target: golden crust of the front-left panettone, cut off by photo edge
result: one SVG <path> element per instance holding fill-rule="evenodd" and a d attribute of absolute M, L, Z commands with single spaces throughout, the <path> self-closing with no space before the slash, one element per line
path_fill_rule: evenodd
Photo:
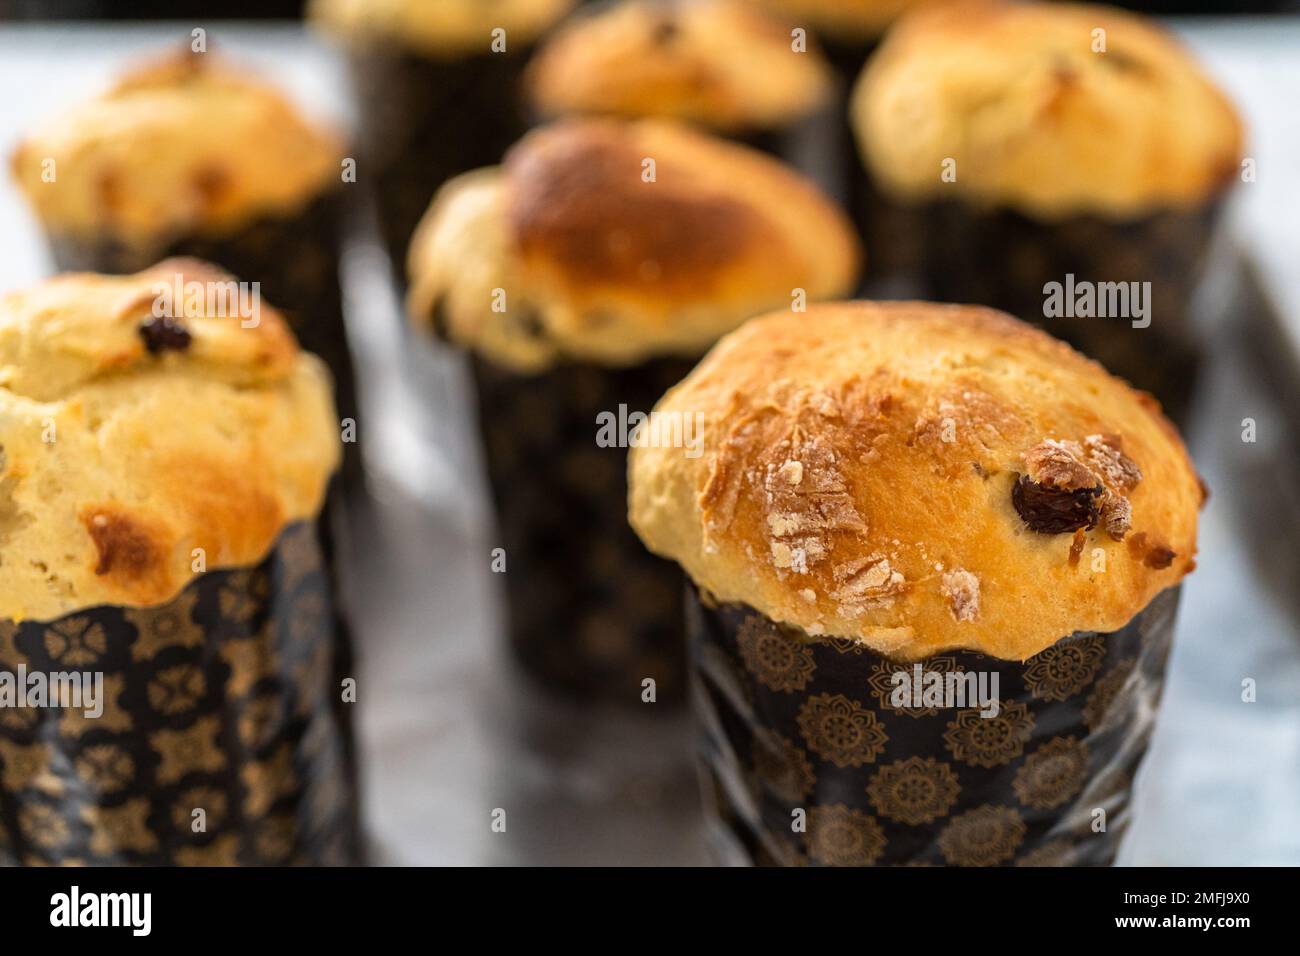
<path fill-rule="evenodd" d="M 0 298 L 0 619 L 166 601 L 320 510 L 339 458 L 329 375 L 270 306 L 182 299 L 183 332 L 147 346 L 164 286 L 228 281 L 178 259 Z"/>

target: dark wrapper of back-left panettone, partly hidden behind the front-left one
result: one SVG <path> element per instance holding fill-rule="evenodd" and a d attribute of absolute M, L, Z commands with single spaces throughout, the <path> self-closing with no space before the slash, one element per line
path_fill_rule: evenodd
<path fill-rule="evenodd" d="M 220 265 L 237 280 L 260 282 L 261 297 L 289 321 L 302 347 L 320 355 L 334 377 L 341 419 L 358 420 L 352 358 L 343 324 L 339 237 L 344 196 L 334 190 L 296 216 L 263 217 L 226 235 L 183 235 L 162 247 L 136 247 L 112 237 L 48 237 L 55 264 L 65 272 L 140 272 L 172 256 Z M 343 446 L 346 490 L 360 486 L 360 446 Z"/>

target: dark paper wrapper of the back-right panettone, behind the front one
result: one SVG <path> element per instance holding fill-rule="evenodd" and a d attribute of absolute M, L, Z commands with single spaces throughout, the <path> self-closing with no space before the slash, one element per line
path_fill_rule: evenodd
<path fill-rule="evenodd" d="M 1202 345 L 1190 319 L 1218 202 L 1127 222 L 1076 216 L 1039 222 L 956 202 L 900 211 L 922 237 L 920 278 L 945 302 L 993 306 L 1041 325 L 1110 372 L 1150 392 L 1184 423 Z M 1150 282 L 1148 328 L 1128 317 L 1044 317 L 1048 282 Z"/>

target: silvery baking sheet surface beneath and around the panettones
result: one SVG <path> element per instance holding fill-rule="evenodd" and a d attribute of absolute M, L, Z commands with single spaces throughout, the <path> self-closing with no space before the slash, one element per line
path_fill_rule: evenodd
<path fill-rule="evenodd" d="M 1247 107 L 1260 168 L 1269 170 L 1238 203 L 1235 232 L 1268 237 L 1270 256 L 1290 250 L 1290 271 L 1273 268 L 1265 282 L 1300 286 L 1300 183 L 1284 172 L 1300 152 L 1284 94 L 1300 87 L 1300 23 L 1210 21 L 1184 33 Z M 188 35 L 182 26 L 0 26 L 0 87 L 23 91 L 0 113 L 0 152 L 36 117 L 101 86 L 133 53 L 181 34 Z M 209 34 L 312 112 L 347 120 L 337 61 L 299 29 Z M 0 287 L 46 274 L 39 233 L 6 179 L 0 225 Z M 346 588 L 359 611 L 358 732 L 372 858 L 707 862 L 685 714 L 655 705 L 572 709 L 534 692 L 500 658 L 465 369 L 406 339 L 382 252 L 360 228 L 347 252 L 348 321 L 374 496 L 354 515 Z M 1248 252 L 1265 261 L 1257 248 Z M 1231 261 L 1231 250 L 1221 260 Z M 1204 310 L 1216 363 L 1190 440 L 1214 494 L 1122 862 L 1300 862 L 1295 407 L 1270 393 L 1251 355 L 1257 326 L 1245 297 L 1225 291 L 1232 281 L 1223 278 L 1219 306 L 1212 299 Z M 1287 295 L 1300 303 L 1300 287 Z M 1275 321 L 1292 319 L 1279 312 Z M 1294 321 L 1300 328 L 1300 312 Z M 1254 444 L 1240 440 L 1244 418 L 1257 421 Z M 1245 676 L 1258 682 L 1253 704 L 1240 700 Z M 498 809 L 504 832 L 491 826 Z"/>

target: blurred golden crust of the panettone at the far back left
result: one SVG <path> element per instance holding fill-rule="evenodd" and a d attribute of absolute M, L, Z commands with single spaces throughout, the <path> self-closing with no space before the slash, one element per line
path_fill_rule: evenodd
<path fill-rule="evenodd" d="M 46 228 L 164 247 L 292 215 L 339 176 L 342 140 L 214 53 L 146 62 L 13 153 Z"/>

